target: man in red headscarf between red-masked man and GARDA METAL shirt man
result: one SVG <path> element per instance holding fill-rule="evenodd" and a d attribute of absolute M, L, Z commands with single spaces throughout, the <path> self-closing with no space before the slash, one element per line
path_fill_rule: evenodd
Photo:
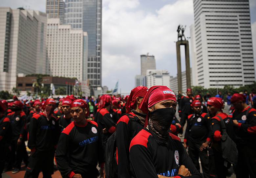
<path fill-rule="evenodd" d="M 63 114 L 59 117 L 59 125 L 61 128 L 61 131 L 63 131 L 72 121 L 73 117 L 70 113 L 72 101 L 70 99 L 64 99 L 62 101 L 62 110 Z"/>

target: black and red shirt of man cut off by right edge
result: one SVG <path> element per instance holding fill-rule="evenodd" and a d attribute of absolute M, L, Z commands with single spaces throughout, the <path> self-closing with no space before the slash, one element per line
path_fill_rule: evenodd
<path fill-rule="evenodd" d="M 229 117 L 238 121 L 238 127 L 234 126 L 234 140 L 236 144 L 247 145 L 255 150 L 256 110 L 248 106 L 242 112 L 234 110 Z"/>

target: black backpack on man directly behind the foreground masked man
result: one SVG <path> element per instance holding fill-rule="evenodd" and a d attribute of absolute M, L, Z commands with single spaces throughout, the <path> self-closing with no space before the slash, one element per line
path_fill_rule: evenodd
<path fill-rule="evenodd" d="M 122 116 L 128 116 L 131 122 L 131 128 L 134 128 L 135 122 L 139 122 L 139 119 L 131 114 L 123 114 Z M 132 140 L 132 138 L 131 138 Z M 117 178 L 117 136 L 114 132 L 107 141 L 105 150 L 105 172 L 107 178 Z"/>

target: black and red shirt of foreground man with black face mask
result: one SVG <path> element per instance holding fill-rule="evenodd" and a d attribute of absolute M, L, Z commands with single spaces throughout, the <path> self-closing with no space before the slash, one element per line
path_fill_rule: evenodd
<path fill-rule="evenodd" d="M 192 160 L 185 151 L 181 139 L 171 133 L 167 144 L 161 143 L 155 134 L 143 129 L 130 144 L 130 169 L 132 177 L 183 178 L 179 175 L 179 166 L 184 165 L 191 173 L 191 178 L 201 178 Z"/>

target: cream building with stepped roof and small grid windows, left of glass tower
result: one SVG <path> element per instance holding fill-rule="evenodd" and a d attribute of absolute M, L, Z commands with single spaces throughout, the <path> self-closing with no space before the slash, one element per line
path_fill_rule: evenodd
<path fill-rule="evenodd" d="M 76 78 L 87 87 L 87 50 L 87 32 L 72 29 L 71 25 L 60 25 L 59 19 L 48 19 L 47 74 Z"/>

